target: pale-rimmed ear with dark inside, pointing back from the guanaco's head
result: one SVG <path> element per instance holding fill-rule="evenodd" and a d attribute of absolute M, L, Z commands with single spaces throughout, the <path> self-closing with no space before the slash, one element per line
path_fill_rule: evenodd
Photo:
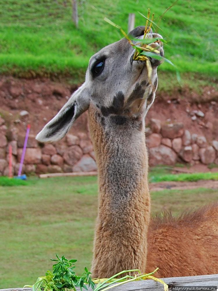
<path fill-rule="evenodd" d="M 72 94 L 58 114 L 37 134 L 36 139 L 40 142 L 60 140 L 65 136 L 77 117 L 89 108 L 89 103 L 89 94 L 84 83 Z"/>

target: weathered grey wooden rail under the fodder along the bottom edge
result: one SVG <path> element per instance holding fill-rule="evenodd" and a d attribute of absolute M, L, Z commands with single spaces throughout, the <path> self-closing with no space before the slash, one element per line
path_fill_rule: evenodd
<path fill-rule="evenodd" d="M 218 274 L 203 276 L 187 276 L 187 277 L 171 277 L 163 278 L 171 286 L 217 286 Z M 0 291 L 31 291 L 31 288 L 9 288 L 0 289 Z M 77 290 L 79 290 L 77 288 Z M 91 290 L 91 289 L 89 289 Z M 153 280 L 136 281 L 125 283 L 124 285 L 115 287 L 112 291 L 163 291 L 163 285 Z"/>

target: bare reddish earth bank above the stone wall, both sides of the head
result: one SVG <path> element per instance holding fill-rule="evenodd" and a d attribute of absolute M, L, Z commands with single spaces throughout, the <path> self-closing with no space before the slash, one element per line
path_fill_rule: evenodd
<path fill-rule="evenodd" d="M 60 110 L 78 86 L 46 78 L 27 80 L 1 76 L 0 113 L 8 124 L 19 128 L 21 132 L 25 132 L 26 125 L 30 123 L 32 134 L 36 134 Z M 204 135 L 208 140 L 217 138 L 218 103 L 215 99 L 218 91 L 208 86 L 202 90 L 201 96 L 188 88 L 175 89 L 170 94 L 157 92 L 157 98 L 146 118 L 146 125 L 149 126 L 151 118 L 158 118 L 162 123 L 183 122 L 184 128 L 188 128 L 190 133 Z M 200 104 L 200 100 L 204 103 Z M 21 117 L 22 110 L 29 114 Z M 204 117 L 197 117 L 192 121 L 191 112 L 194 110 L 202 111 Z M 77 133 L 86 130 L 87 115 L 83 114 L 72 131 Z"/>

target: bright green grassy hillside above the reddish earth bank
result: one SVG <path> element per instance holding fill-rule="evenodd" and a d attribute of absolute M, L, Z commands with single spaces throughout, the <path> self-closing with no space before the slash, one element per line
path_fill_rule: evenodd
<path fill-rule="evenodd" d="M 90 56 L 122 35 L 106 16 L 127 30 L 128 13 L 155 13 L 155 21 L 173 1 L 83 0 L 79 29 L 71 20 L 71 0 L 0 0 L 0 73 L 83 76 Z M 218 6 L 216 0 L 179 0 L 160 22 L 165 56 L 181 72 L 218 72 Z M 159 31 L 160 33 L 160 31 Z M 160 70 L 173 70 L 169 64 Z"/>

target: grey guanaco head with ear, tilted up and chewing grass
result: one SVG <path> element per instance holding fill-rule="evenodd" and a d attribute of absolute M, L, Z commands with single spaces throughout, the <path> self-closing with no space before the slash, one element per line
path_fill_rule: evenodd
<path fill-rule="evenodd" d="M 135 28 L 130 35 L 143 38 L 144 27 Z M 152 31 L 148 37 L 161 38 Z M 158 45 L 158 50 L 163 56 L 162 45 Z M 144 119 L 155 98 L 160 61 L 149 58 L 152 68 L 149 78 L 146 62 L 133 60 L 134 52 L 128 40 L 123 38 L 94 54 L 83 85 L 44 126 L 36 139 L 41 142 L 60 140 L 76 118 L 89 107 L 114 126 L 122 125 L 128 119 Z"/>

